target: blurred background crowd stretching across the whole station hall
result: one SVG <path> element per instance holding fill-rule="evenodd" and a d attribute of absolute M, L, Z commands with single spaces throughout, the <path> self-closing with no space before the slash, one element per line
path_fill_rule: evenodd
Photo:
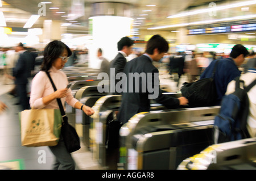
<path fill-rule="evenodd" d="M 72 56 L 69 57 L 65 67 L 73 66 L 74 64 L 84 64 L 88 62 L 88 49 L 71 49 Z M 99 49 L 100 50 L 100 49 Z M 30 59 L 30 67 L 26 68 L 26 70 L 22 71 L 29 71 L 28 78 L 30 81 L 32 77 L 40 70 L 40 65 L 43 61 L 43 50 L 35 49 L 35 48 L 28 48 L 24 47 L 22 43 L 16 45 L 16 47 L 11 48 L 0 48 L 0 82 L 2 85 L 15 85 L 14 89 L 11 90 L 9 93 L 13 96 L 18 96 L 17 92 L 17 84 L 20 84 L 19 78 L 15 78 L 15 70 L 18 71 L 16 66 L 20 54 L 29 54 Z M 139 57 L 142 55 L 142 52 L 138 50 L 133 50 L 129 57 L 127 57 L 127 61 L 135 57 Z M 107 64 L 104 64 L 105 58 L 102 56 L 102 50 L 98 52 L 97 57 L 99 60 L 102 60 L 102 65 L 99 69 L 104 71 L 104 69 L 108 68 Z M 216 53 L 216 52 L 196 52 L 195 50 L 188 51 L 188 52 L 176 52 L 176 53 L 166 53 L 165 56 L 159 62 L 153 62 L 158 69 L 164 69 L 168 71 L 168 75 L 170 78 L 177 82 L 177 87 L 181 86 L 180 78 L 181 75 L 185 75 L 188 82 L 197 81 L 200 79 L 200 75 L 203 73 L 205 68 L 208 67 L 210 62 L 216 59 L 223 59 L 229 57 L 229 54 L 225 53 Z M 251 58 L 255 58 L 255 53 L 250 52 L 249 56 L 245 58 L 243 64 L 239 67 L 242 73 L 246 73 L 248 69 L 248 65 L 250 63 Z M 108 60 L 109 61 L 109 60 Z M 106 62 L 106 61 L 105 61 Z M 20 75 L 18 75 L 19 77 Z M 29 93 L 29 85 L 26 86 Z M 24 93 L 25 94 L 25 93 Z"/>

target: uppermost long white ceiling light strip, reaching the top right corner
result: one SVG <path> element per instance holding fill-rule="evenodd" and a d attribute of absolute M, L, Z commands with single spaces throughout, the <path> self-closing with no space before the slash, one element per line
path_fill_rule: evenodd
<path fill-rule="evenodd" d="M 180 14 L 171 15 L 171 16 L 168 16 L 167 18 L 180 18 L 180 17 L 184 17 L 184 16 L 191 16 L 191 15 L 196 15 L 196 14 L 202 14 L 202 13 L 209 12 L 209 11 L 220 11 L 220 10 L 226 10 L 226 9 L 234 8 L 234 7 L 248 6 L 248 5 L 254 5 L 254 4 L 256 4 L 256 0 L 245 1 L 245 2 L 238 2 L 238 3 L 234 3 L 232 5 L 216 6 L 214 8 L 213 7 L 209 7 L 207 9 L 200 9 L 200 10 L 195 10 L 195 11 L 181 12 Z"/>

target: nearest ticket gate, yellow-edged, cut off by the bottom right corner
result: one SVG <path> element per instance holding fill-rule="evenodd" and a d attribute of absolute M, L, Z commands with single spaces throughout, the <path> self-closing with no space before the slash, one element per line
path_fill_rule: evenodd
<path fill-rule="evenodd" d="M 184 159 L 179 170 L 256 170 L 256 138 L 210 145 Z"/>

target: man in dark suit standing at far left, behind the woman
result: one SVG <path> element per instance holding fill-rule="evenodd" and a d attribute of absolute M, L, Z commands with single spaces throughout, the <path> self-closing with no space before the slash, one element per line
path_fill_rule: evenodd
<path fill-rule="evenodd" d="M 19 43 L 19 45 L 16 47 L 16 51 L 19 53 L 19 58 L 16 66 L 13 68 L 13 77 L 15 78 L 19 103 L 22 106 L 23 111 L 30 108 L 29 99 L 27 96 L 27 84 L 28 78 L 31 77 L 34 57 L 30 52 L 23 48 L 22 43 Z"/>

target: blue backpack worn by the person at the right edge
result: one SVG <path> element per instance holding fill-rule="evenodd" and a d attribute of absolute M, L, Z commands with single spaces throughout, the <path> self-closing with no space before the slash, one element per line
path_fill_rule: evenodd
<path fill-rule="evenodd" d="M 245 82 L 240 80 L 240 77 L 235 81 L 235 91 L 223 97 L 220 113 L 214 119 L 214 144 L 250 137 L 246 128 L 249 114 L 247 92 L 255 85 L 256 79 L 247 87 L 244 86 Z"/>

